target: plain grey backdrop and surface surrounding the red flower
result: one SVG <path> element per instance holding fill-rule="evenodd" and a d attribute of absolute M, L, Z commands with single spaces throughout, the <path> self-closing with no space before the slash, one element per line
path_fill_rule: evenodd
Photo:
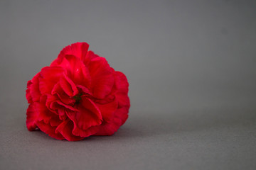
<path fill-rule="evenodd" d="M 1 1 L 0 169 L 256 169 L 256 1 Z M 26 130 L 26 82 L 73 42 L 129 79 L 111 137 Z"/>

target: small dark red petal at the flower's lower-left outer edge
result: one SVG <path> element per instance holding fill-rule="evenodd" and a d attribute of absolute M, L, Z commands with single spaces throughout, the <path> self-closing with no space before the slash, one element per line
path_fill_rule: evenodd
<path fill-rule="evenodd" d="M 27 112 L 26 112 L 27 118 L 26 118 L 26 126 L 29 131 L 36 129 L 36 121 L 38 118 L 38 113 L 36 112 L 34 108 L 34 103 L 31 103 L 28 106 Z"/>

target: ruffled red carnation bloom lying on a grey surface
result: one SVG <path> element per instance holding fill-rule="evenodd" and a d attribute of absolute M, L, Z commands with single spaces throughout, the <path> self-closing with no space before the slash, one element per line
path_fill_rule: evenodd
<path fill-rule="evenodd" d="M 28 81 L 26 125 L 58 140 L 112 135 L 128 118 L 128 81 L 86 42 L 65 47 Z"/>

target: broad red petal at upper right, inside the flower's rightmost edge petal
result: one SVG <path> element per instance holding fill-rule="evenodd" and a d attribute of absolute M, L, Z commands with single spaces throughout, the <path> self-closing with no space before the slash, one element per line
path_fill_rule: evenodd
<path fill-rule="evenodd" d="M 90 62 L 92 94 L 95 98 L 105 98 L 114 85 L 113 69 L 103 57 L 96 57 Z"/>

